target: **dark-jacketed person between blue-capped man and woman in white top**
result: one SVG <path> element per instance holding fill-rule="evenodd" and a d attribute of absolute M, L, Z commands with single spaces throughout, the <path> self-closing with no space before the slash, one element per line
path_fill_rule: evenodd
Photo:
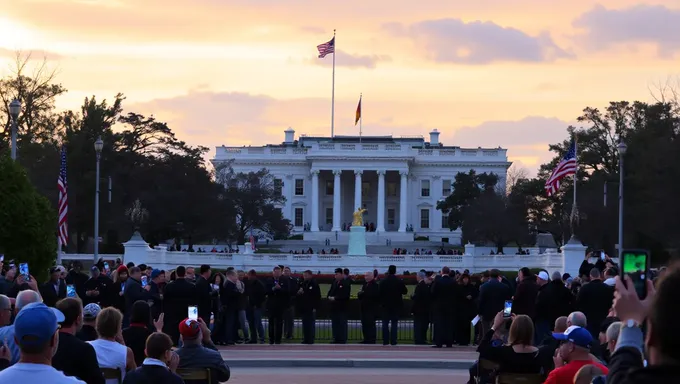
<path fill-rule="evenodd" d="M 52 366 L 66 376 L 74 376 L 87 384 L 104 384 L 92 346 L 76 337 L 83 325 L 83 303 L 75 297 L 57 302 L 57 309 L 64 315 L 59 329 L 59 347 L 52 357 Z"/>

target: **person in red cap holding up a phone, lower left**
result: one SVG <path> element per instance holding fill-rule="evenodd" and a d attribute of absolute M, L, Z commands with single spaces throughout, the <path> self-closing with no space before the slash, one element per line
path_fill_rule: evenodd
<path fill-rule="evenodd" d="M 184 319 L 179 323 L 182 347 L 177 349 L 179 368 L 210 369 L 210 383 L 219 384 L 229 380 L 231 371 L 210 341 L 210 330 L 205 322 Z"/>

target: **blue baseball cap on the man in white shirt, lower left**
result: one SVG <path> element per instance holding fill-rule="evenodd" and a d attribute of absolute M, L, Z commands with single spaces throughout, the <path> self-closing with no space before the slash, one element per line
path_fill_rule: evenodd
<path fill-rule="evenodd" d="M 46 344 L 64 321 L 64 314 L 43 303 L 23 307 L 14 319 L 14 337 L 19 345 Z"/>

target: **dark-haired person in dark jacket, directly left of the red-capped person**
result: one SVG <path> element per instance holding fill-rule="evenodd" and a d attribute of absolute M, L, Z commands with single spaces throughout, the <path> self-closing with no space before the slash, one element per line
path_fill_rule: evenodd
<path fill-rule="evenodd" d="M 142 365 L 129 372 L 123 384 L 184 384 L 177 371 L 179 356 L 172 351 L 172 339 L 165 333 L 151 334 L 145 343 L 146 358 Z"/>

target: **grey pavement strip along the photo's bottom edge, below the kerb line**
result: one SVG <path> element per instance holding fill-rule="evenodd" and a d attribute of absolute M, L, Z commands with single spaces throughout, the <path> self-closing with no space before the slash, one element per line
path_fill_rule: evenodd
<path fill-rule="evenodd" d="M 467 369 L 234 368 L 228 384 L 464 384 L 468 379 Z"/>

